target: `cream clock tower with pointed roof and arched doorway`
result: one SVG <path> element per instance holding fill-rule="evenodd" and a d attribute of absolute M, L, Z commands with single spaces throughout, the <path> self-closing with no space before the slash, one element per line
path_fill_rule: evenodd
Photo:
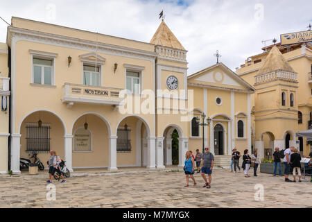
<path fill-rule="evenodd" d="M 156 165 L 184 164 L 188 148 L 187 50 L 168 28 L 164 19 L 157 28 L 151 44 L 155 45 L 156 96 Z M 178 151 L 173 151 L 172 135 L 177 133 Z M 177 154 L 176 154 L 177 153 Z M 177 155 L 177 156 L 174 156 Z"/>

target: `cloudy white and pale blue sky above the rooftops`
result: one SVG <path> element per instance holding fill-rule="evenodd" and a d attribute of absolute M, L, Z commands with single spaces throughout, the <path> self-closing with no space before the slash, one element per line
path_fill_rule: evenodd
<path fill-rule="evenodd" d="M 164 10 L 166 24 L 189 51 L 189 74 L 214 65 L 216 50 L 234 70 L 261 53 L 262 40 L 312 24 L 311 0 L 0 0 L 0 6 L 9 23 L 23 17 L 143 42 L 153 37 Z M 6 42 L 6 26 L 0 21 L 0 42 Z"/>

